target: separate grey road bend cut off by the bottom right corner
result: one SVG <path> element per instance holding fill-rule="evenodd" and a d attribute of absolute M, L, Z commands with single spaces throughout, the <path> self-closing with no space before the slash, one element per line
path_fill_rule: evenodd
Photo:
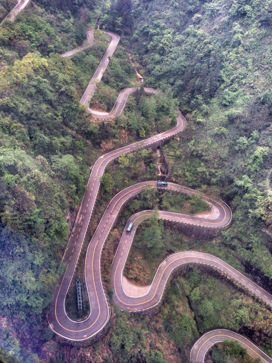
<path fill-rule="evenodd" d="M 194 343 L 191 348 L 190 360 L 193 363 L 204 363 L 207 351 L 216 343 L 223 342 L 224 340 L 232 340 L 238 342 L 245 348 L 252 357 L 260 358 L 262 363 L 272 363 L 272 359 L 260 350 L 250 340 L 243 337 L 243 335 L 234 333 L 234 331 L 226 329 L 217 329 L 208 331 L 202 335 L 201 338 Z"/>

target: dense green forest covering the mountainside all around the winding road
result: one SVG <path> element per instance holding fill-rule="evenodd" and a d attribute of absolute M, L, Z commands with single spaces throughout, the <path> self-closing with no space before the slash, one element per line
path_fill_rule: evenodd
<path fill-rule="evenodd" d="M 0 21 L 15 4 L 0 0 Z M 0 27 L 0 359 L 187 362 L 194 339 L 222 326 L 250 336 L 271 355 L 272 315 L 267 307 L 199 268 L 185 269 L 173 278 L 154 317 L 131 316 L 111 305 L 109 330 L 90 346 L 63 344 L 46 321 L 89 168 L 107 150 L 169 129 L 175 106 L 188 126 L 163 148 L 169 177 L 225 200 L 234 212 L 233 223 L 210 242 L 159 224 L 156 238 L 160 246 L 164 244 L 161 254 L 147 253 L 143 245 L 133 250 L 141 264 L 138 281 L 152 277 L 148 258 L 159 261 L 164 254 L 191 248 L 229 261 L 269 290 L 271 15 L 268 0 L 111 4 L 33 0 L 14 22 L 4 21 Z M 60 56 L 81 45 L 98 18 L 100 27 L 121 36 L 121 44 L 94 95 L 95 105 L 109 110 L 121 89 L 137 85 L 127 52 L 139 63 L 145 86 L 164 93 L 130 96 L 124 113 L 108 122 L 92 119 L 79 100 L 109 38 L 95 30 L 96 44 L 91 48 L 71 60 Z M 107 170 L 108 183 L 102 183 L 96 212 L 103 213 L 110 197 L 125 186 L 141 178 L 154 179 L 155 163 L 156 156 L 147 151 L 119 158 Z M 148 191 L 121 215 L 103 252 L 106 286 L 127 217 L 139 208 L 160 204 L 176 210 L 185 203 L 164 198 Z M 186 203 L 189 210 L 188 204 L 195 202 Z M 94 218 L 90 234 L 96 222 Z M 136 240 L 148 238 L 157 226 L 157 221 L 143 226 Z M 133 280 L 133 256 L 129 263 Z M 107 292 L 110 298 L 110 289 Z M 211 357 L 223 362 L 227 354 L 253 362 L 244 351 L 227 344 L 214 347 Z"/>

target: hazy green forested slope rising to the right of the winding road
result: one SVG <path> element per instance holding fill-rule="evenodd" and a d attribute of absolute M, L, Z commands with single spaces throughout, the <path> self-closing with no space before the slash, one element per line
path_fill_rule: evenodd
<path fill-rule="evenodd" d="M 134 1 L 129 36 L 124 24 L 145 83 L 172 93 L 189 121 L 165 147 L 171 178 L 231 204 L 222 243 L 269 279 L 271 15 L 268 0 Z M 119 20 L 114 9 L 104 18 Z"/>

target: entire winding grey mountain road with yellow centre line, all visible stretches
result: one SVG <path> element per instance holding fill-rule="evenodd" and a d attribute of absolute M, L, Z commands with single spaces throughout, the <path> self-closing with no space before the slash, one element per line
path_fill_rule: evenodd
<path fill-rule="evenodd" d="M 13 20 L 16 14 L 21 11 L 28 2 L 29 0 L 20 0 L 7 17 Z M 119 36 L 114 33 L 106 33 L 112 37 L 112 41 L 80 101 L 88 107 L 88 111 L 92 113 L 94 117 L 98 118 L 118 117 L 123 111 L 129 93 L 136 90 L 136 88 L 128 88 L 121 91 L 110 113 L 99 113 L 89 108 L 88 105 L 96 89 L 96 84 L 100 81 L 104 70 L 109 63 L 109 58 L 114 53 L 114 50 L 120 39 Z M 73 49 L 70 52 L 64 53 L 62 56 L 71 56 L 74 53 L 94 44 L 95 39 L 92 31 L 87 32 L 87 40 L 87 44 Z M 152 88 L 145 88 L 145 91 L 156 93 L 156 90 Z M 106 165 L 118 156 L 133 151 L 136 148 L 147 147 L 153 143 L 173 137 L 178 132 L 183 131 L 185 127 L 186 119 L 181 114 L 181 112 L 177 110 L 177 125 L 173 129 L 108 152 L 96 160 L 91 171 L 90 179 L 88 180 L 87 191 L 83 196 L 81 207 L 79 208 L 79 212 L 62 259 L 62 261 L 66 264 L 66 270 L 61 279 L 60 285 L 54 292 L 54 299 L 51 304 L 50 313 L 48 314 L 49 326 L 61 337 L 70 340 L 85 340 L 97 334 L 107 324 L 110 318 L 110 309 L 107 303 L 106 295 L 104 293 L 100 274 L 100 258 L 104 242 L 106 241 L 108 233 L 110 232 L 122 205 L 129 198 L 138 194 L 144 188 L 157 187 L 156 181 L 145 181 L 132 185 L 116 194 L 108 204 L 106 211 L 104 212 L 104 215 L 100 220 L 99 225 L 96 228 L 96 231 L 88 245 L 86 253 L 85 281 L 91 306 L 90 315 L 84 321 L 73 321 L 66 314 L 65 297 L 73 278 L 74 270 L 77 265 L 79 254 L 81 252 L 82 244 L 91 218 L 91 213 L 99 189 L 99 179 L 103 175 Z M 189 216 L 182 213 L 159 211 L 159 218 L 172 221 L 173 223 L 198 225 L 203 228 L 223 228 L 227 227 L 231 223 L 231 209 L 222 200 L 204 195 L 194 191 L 193 189 L 173 183 L 168 183 L 167 188 L 176 192 L 197 194 L 202 198 L 202 200 L 205 200 L 209 205 L 212 205 L 213 211 L 215 212 L 208 213 L 207 215 Z M 144 288 L 140 287 L 137 289 L 136 293 L 134 291 L 131 295 L 129 295 L 129 282 L 126 281 L 123 277 L 125 261 L 127 259 L 129 248 L 132 244 L 133 236 L 137 226 L 141 221 L 153 215 L 153 213 L 154 211 L 150 210 L 142 211 L 129 218 L 127 223 L 132 221 L 134 225 L 132 233 L 127 234 L 125 232 L 126 229 L 124 230 L 114 257 L 114 261 L 112 262 L 111 284 L 114 291 L 113 299 L 120 309 L 136 312 L 150 309 L 157 305 L 161 301 L 165 284 L 173 269 L 186 263 L 205 264 L 217 268 L 223 273 L 227 274 L 229 277 L 233 278 L 240 285 L 244 286 L 247 290 L 256 295 L 257 298 L 267 303 L 270 307 L 272 306 L 272 295 L 267 291 L 256 285 L 254 282 L 252 282 L 236 269 L 232 268 L 232 266 L 228 265 L 226 262 L 222 261 L 220 258 L 207 253 L 196 251 L 177 252 L 170 255 L 160 264 L 160 266 L 158 266 L 157 272 L 150 286 L 146 286 Z M 127 282 L 125 289 L 123 282 Z M 272 363 L 272 359 L 269 358 L 259 348 L 257 348 L 247 338 L 229 330 L 213 330 L 204 334 L 193 345 L 190 359 L 193 363 L 203 363 L 207 350 L 209 350 L 209 348 L 215 343 L 222 342 L 223 340 L 237 340 L 244 348 L 247 349 L 250 355 L 256 358 L 260 357 L 261 362 Z"/>

